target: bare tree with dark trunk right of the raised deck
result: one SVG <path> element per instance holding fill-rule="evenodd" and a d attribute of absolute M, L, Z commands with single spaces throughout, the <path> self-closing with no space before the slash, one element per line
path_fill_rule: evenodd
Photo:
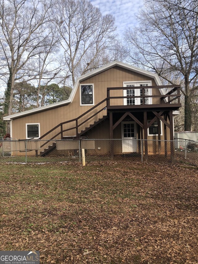
<path fill-rule="evenodd" d="M 157 72 L 170 84 L 176 84 L 170 76 L 182 77 L 184 129 L 187 131 L 192 125 L 192 95 L 198 89 L 197 9 L 196 2 L 192 2 L 187 10 L 183 6 L 172 5 L 170 8 L 162 0 L 144 1 L 138 17 L 140 26 L 125 32 L 130 62 Z"/>

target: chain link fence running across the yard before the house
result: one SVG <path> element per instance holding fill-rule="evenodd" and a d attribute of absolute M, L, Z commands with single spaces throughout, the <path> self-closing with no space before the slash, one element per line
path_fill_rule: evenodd
<path fill-rule="evenodd" d="M 45 164 L 131 161 L 198 166 L 198 142 L 180 140 L 16 140 L 0 141 L 0 163 Z M 147 154 L 148 149 L 148 154 Z M 172 149 L 172 155 L 171 155 Z"/>

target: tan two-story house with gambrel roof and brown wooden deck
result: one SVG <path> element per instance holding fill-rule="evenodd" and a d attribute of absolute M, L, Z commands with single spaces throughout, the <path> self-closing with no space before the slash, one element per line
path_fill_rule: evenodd
<path fill-rule="evenodd" d="M 166 92 L 170 88 L 170 92 Z M 174 155 L 174 115 L 179 114 L 180 86 L 162 86 L 149 71 L 114 61 L 80 76 L 68 100 L 4 117 L 11 122 L 11 137 L 42 139 L 42 150 L 50 139 L 122 139 L 114 149 L 96 153 L 140 152 L 131 139 L 161 140 Z M 144 154 L 155 153 L 144 142 Z M 24 153 L 21 153 L 24 154 Z M 28 154 L 32 154 L 29 152 Z M 39 153 L 38 153 L 39 154 Z"/>

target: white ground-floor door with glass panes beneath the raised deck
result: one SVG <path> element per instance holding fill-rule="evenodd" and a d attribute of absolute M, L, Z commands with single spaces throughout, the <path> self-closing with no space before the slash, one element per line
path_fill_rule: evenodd
<path fill-rule="evenodd" d="M 122 152 L 136 152 L 137 151 L 136 122 L 124 121 L 122 122 Z"/>

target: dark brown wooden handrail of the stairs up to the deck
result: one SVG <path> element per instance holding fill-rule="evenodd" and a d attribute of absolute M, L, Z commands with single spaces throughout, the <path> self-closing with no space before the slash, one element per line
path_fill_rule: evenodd
<path fill-rule="evenodd" d="M 49 133 L 51 133 L 52 131 L 54 131 L 55 129 L 61 127 L 61 131 L 58 132 L 55 136 L 53 136 L 51 139 L 49 139 L 47 142 L 45 142 L 43 145 L 41 145 L 41 147 L 43 147 L 45 144 L 47 144 L 50 140 L 54 139 L 56 136 L 62 134 L 63 132 L 66 132 L 66 131 L 69 131 L 69 130 L 72 130 L 72 129 L 76 129 L 76 137 L 78 137 L 78 128 L 84 124 L 85 122 L 87 122 L 89 119 L 91 119 L 93 116 L 97 115 L 98 113 L 100 113 L 104 108 L 102 108 L 101 110 L 97 111 L 97 113 L 93 114 L 91 117 L 89 117 L 88 119 L 86 119 L 85 121 L 83 121 L 82 123 L 78 124 L 78 120 L 80 118 L 82 118 L 84 115 L 88 114 L 89 112 L 91 112 L 93 109 L 95 109 L 97 106 L 100 106 L 102 103 L 104 103 L 105 101 L 107 101 L 107 98 L 103 99 L 101 102 L 99 102 L 97 105 L 93 106 L 92 108 L 90 108 L 89 110 L 87 110 L 86 112 L 84 112 L 82 115 L 80 115 L 79 117 L 77 118 L 74 118 L 74 119 L 71 119 L 71 120 L 68 120 L 68 121 L 65 121 L 65 122 L 61 122 L 59 123 L 58 125 L 56 125 L 54 128 L 50 129 L 48 132 L 46 132 L 44 135 L 42 135 L 41 137 L 39 137 L 39 139 L 41 140 L 42 138 L 44 138 L 45 136 L 47 136 Z M 105 106 L 106 107 L 106 106 Z M 65 129 L 65 130 L 62 130 L 62 125 L 64 124 L 67 124 L 67 123 L 71 123 L 71 122 L 74 122 L 76 121 L 76 125 L 75 127 L 72 127 L 72 128 L 68 128 L 68 129 Z"/>

